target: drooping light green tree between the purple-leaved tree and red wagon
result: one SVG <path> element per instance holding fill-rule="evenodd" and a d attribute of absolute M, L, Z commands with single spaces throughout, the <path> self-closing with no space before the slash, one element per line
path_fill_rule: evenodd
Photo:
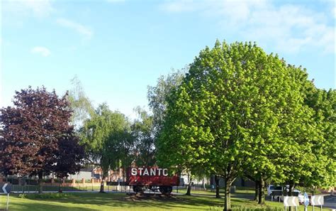
<path fill-rule="evenodd" d="M 100 104 L 95 114 L 84 121 L 80 129 L 81 141 L 86 146 L 90 163 L 102 170 L 101 190 L 109 170 L 123 166 L 131 148 L 130 123 L 125 115 L 111 111 L 106 104 Z M 130 143 L 130 144 L 129 144 Z"/>

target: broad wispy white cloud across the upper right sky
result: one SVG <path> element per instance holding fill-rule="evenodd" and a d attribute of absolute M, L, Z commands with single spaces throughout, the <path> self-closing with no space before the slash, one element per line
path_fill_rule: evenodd
<path fill-rule="evenodd" d="M 298 4 L 275 6 L 271 1 L 167 1 L 160 9 L 168 13 L 195 12 L 217 19 L 225 32 L 245 40 L 273 45 L 285 53 L 303 48 L 322 48 L 335 53 L 335 27 L 330 16 Z M 328 19 L 329 18 L 329 19 Z"/>

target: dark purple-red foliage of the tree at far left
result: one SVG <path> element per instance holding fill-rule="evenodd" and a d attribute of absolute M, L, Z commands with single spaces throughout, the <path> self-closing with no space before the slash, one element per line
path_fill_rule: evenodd
<path fill-rule="evenodd" d="M 72 110 L 66 97 L 28 87 L 16 92 L 13 107 L 0 109 L 0 172 L 65 177 L 79 171 L 84 148 L 69 124 Z"/>

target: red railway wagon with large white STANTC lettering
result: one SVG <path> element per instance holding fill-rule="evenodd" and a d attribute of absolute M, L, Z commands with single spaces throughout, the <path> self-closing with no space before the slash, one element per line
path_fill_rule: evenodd
<path fill-rule="evenodd" d="M 144 190 L 172 193 L 173 186 L 179 185 L 179 176 L 169 176 L 167 168 L 159 167 L 130 167 L 126 171 L 126 184 L 133 186 L 135 193 Z"/>

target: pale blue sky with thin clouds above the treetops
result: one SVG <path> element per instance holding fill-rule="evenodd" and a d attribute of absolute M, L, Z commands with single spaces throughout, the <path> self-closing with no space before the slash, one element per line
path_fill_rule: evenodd
<path fill-rule="evenodd" d="M 256 41 L 336 87 L 333 1 L 1 1 L 0 107 L 29 85 L 63 94 L 77 75 L 95 105 L 134 117 L 147 85 L 216 39 Z"/>

